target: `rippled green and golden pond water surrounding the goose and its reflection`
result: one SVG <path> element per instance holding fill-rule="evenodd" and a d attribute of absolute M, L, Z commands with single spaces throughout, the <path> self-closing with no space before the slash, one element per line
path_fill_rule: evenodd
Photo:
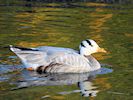
<path fill-rule="evenodd" d="M 8 81 L 0 81 L 1 100 L 132 100 L 133 99 L 133 9 L 132 5 L 101 3 L 44 3 L 13 0 L 0 1 L 0 64 L 20 65 L 14 54 L 4 46 L 42 45 L 69 47 L 78 50 L 79 43 L 94 39 L 108 53 L 94 57 L 112 73 L 97 75 L 92 81 L 99 92 L 95 97 L 80 93 L 66 95 L 61 91 L 78 89 L 76 84 L 61 86 L 32 86 L 11 91 Z M 108 66 L 109 65 L 109 66 Z M 5 66 L 6 67 L 6 66 Z M 17 75 L 15 71 L 12 75 Z"/>

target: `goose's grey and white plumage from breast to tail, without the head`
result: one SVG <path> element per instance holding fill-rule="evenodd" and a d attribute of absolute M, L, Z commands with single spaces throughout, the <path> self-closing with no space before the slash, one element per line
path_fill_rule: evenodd
<path fill-rule="evenodd" d="M 97 60 L 91 55 L 86 58 L 78 54 L 78 51 L 69 48 L 44 46 L 33 50 L 22 50 L 21 48 L 11 47 L 11 50 L 26 67 L 37 69 L 37 67 L 43 66 L 41 69 L 45 72 L 82 73 L 100 67 Z"/>

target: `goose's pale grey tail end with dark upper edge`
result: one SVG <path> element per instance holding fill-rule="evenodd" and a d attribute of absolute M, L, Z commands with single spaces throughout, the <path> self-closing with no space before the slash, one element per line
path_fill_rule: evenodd
<path fill-rule="evenodd" d="M 24 48 L 10 45 L 10 50 L 14 52 L 25 65 L 26 68 L 32 67 L 36 69 L 38 66 L 43 65 L 46 53 L 37 50 L 36 48 Z"/>

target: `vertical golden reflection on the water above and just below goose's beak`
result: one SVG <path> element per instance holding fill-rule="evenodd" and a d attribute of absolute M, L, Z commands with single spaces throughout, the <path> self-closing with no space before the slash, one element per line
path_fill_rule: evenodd
<path fill-rule="evenodd" d="M 91 38 L 96 40 L 98 44 L 101 44 L 101 42 L 104 42 L 104 38 L 102 36 L 102 31 L 109 29 L 109 27 L 105 27 L 104 24 L 110 20 L 113 17 L 112 13 L 104 13 L 105 9 L 102 8 L 103 6 L 107 6 L 108 4 L 100 4 L 100 3 L 88 3 L 88 6 L 96 6 L 100 8 L 96 8 L 94 12 L 89 13 L 92 19 L 89 22 L 89 28 L 92 30 L 91 33 Z M 89 33 L 89 34 L 90 34 Z M 93 54 L 98 60 L 104 60 L 109 58 L 108 56 L 109 52 L 107 54 L 103 53 L 97 53 Z"/>

